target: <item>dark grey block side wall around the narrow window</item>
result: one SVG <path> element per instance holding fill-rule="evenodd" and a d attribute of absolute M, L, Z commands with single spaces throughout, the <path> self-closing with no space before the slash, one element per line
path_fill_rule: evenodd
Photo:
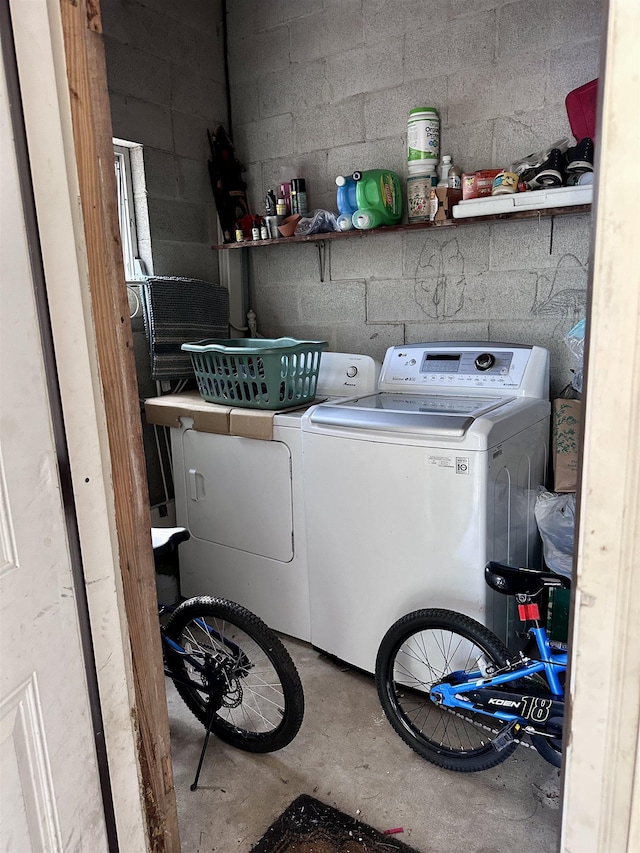
<path fill-rule="evenodd" d="M 114 136 L 144 148 L 153 272 L 217 281 L 207 128 L 227 124 L 220 0 L 101 0 Z"/>

